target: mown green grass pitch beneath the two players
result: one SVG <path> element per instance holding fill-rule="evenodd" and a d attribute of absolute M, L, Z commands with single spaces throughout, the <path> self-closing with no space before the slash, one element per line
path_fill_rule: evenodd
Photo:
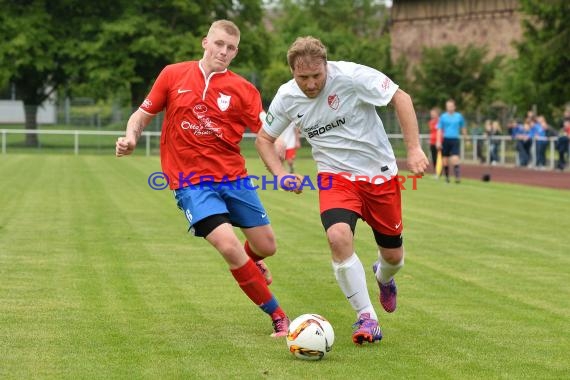
<path fill-rule="evenodd" d="M 112 150 L 111 150 L 112 151 Z M 301 155 L 303 157 L 303 155 Z M 250 155 L 252 174 L 264 174 Z M 425 177 L 404 194 L 399 307 L 356 347 L 317 192 L 261 191 L 279 251 L 271 289 L 291 317 L 335 328 L 320 362 L 269 337 L 221 257 L 185 232 L 157 157 L 0 157 L 0 378 L 544 379 L 570 376 L 570 193 Z M 297 162 L 314 175 L 314 163 Z"/>

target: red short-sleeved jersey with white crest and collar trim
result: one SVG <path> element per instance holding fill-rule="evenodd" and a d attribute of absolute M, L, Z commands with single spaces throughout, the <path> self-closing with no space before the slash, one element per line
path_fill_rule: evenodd
<path fill-rule="evenodd" d="M 198 61 L 175 63 L 161 71 L 139 109 L 150 115 L 166 109 L 160 161 L 171 189 L 247 175 L 239 143 L 246 127 L 259 131 L 263 107 L 246 79 L 229 70 L 206 77 Z"/>

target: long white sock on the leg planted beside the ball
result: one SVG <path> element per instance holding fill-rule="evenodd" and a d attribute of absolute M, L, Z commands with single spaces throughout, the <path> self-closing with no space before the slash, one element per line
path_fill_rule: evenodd
<path fill-rule="evenodd" d="M 356 311 L 357 317 L 362 313 L 370 313 L 370 318 L 378 320 L 368 295 L 364 267 L 356 253 L 341 263 L 333 261 L 333 270 L 338 285 Z"/>

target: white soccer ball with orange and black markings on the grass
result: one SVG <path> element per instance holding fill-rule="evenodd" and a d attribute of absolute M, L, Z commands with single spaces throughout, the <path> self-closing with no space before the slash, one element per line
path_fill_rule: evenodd
<path fill-rule="evenodd" d="M 334 330 L 318 314 L 303 314 L 289 324 L 287 347 L 299 359 L 320 360 L 332 349 Z"/>

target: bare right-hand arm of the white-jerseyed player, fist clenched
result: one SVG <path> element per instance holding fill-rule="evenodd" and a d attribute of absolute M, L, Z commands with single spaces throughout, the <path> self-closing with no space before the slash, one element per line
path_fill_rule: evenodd
<path fill-rule="evenodd" d="M 398 89 L 391 101 L 400 121 L 404 143 L 408 152 L 408 169 L 414 174 L 422 175 L 429 166 L 429 161 L 420 145 L 418 119 L 412 98 L 403 90 Z"/>

